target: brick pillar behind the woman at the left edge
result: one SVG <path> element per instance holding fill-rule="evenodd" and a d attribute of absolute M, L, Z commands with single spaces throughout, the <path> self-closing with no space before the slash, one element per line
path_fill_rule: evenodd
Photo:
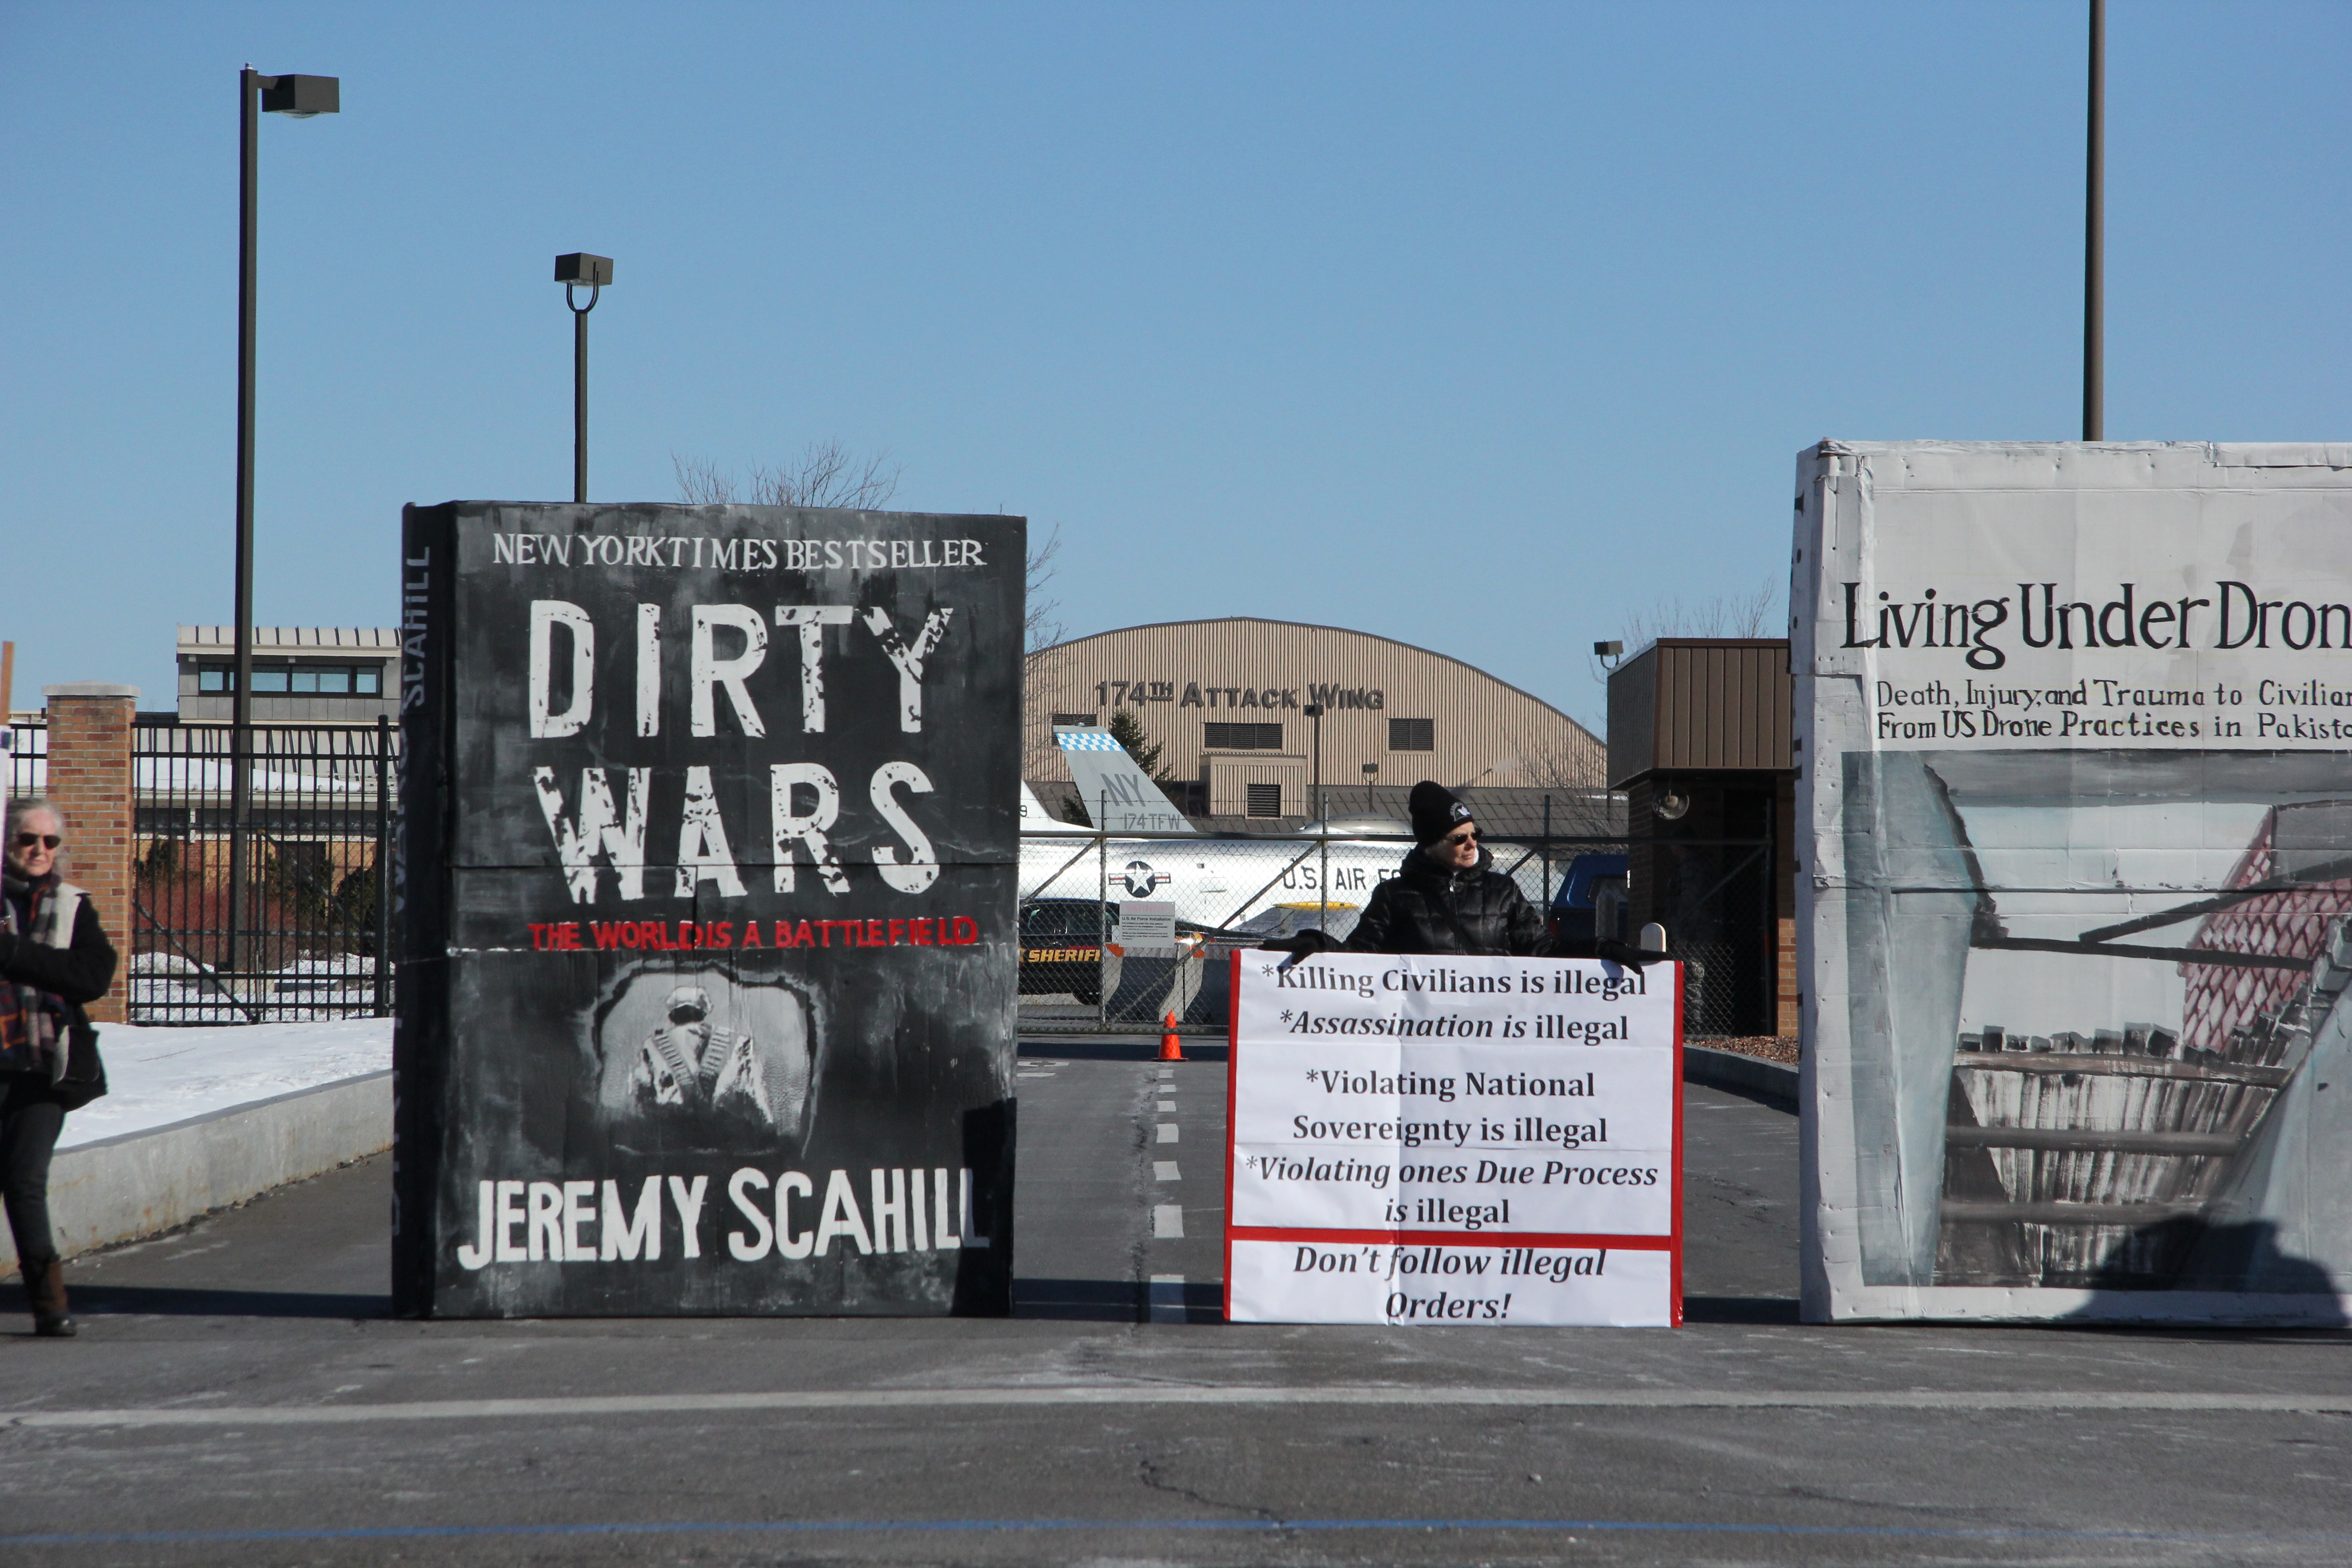
<path fill-rule="evenodd" d="M 139 686 L 42 686 L 49 705 L 47 802 L 66 818 L 66 882 L 89 893 L 122 961 L 92 1023 L 122 1023 L 132 964 L 132 719 Z"/>

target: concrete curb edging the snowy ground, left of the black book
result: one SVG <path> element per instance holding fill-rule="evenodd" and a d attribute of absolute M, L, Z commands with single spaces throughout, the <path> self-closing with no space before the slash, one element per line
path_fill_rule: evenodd
<path fill-rule="evenodd" d="M 393 1147 L 393 1074 L 296 1088 L 209 1117 L 59 1150 L 49 1227 L 66 1258 L 186 1225 L 209 1208 Z M 0 1269 L 16 1244 L 0 1225 Z"/>

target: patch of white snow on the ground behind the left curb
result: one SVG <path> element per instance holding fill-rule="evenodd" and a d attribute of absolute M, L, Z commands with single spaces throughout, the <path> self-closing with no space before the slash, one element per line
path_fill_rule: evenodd
<path fill-rule="evenodd" d="M 209 1117 L 296 1088 L 383 1072 L 393 1065 L 390 1018 L 249 1023 L 212 1030 L 99 1025 L 103 1100 L 66 1117 L 56 1147 Z"/>

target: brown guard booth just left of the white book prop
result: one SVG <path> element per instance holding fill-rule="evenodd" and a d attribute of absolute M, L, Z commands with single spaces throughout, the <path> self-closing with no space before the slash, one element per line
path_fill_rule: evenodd
<path fill-rule="evenodd" d="M 1609 675 L 1625 792 L 1625 922 L 1684 961 L 1689 1034 L 1797 1032 L 1785 637 L 1661 637 Z"/>

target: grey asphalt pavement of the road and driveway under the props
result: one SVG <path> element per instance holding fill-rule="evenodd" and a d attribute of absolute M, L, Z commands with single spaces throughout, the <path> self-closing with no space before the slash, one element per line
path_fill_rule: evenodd
<path fill-rule="evenodd" d="M 2352 1561 L 2352 1338 L 1802 1326 L 1722 1091 L 1679 1331 L 1228 1326 L 1223 1060 L 1148 1056 L 1023 1046 L 1011 1319 L 395 1321 L 383 1159 L 80 1260 L 0 1563 Z"/>

